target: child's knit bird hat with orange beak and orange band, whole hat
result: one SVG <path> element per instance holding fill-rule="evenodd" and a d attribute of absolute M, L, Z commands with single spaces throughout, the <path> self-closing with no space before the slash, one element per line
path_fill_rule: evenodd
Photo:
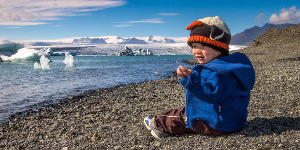
<path fill-rule="evenodd" d="M 224 55 L 229 55 L 231 34 L 226 23 L 218 16 L 206 17 L 194 21 L 186 28 L 191 30 L 187 44 L 200 43 Z"/>

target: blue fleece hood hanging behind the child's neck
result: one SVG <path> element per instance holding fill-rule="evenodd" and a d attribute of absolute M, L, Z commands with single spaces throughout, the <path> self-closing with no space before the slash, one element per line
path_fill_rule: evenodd
<path fill-rule="evenodd" d="M 202 66 L 223 76 L 234 74 L 245 91 L 250 91 L 254 87 L 254 68 L 249 58 L 243 53 L 235 52 L 229 56 L 214 59 Z"/>

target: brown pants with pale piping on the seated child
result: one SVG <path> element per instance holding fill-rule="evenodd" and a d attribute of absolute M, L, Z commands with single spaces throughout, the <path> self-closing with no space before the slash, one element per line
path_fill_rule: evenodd
<path fill-rule="evenodd" d="M 179 110 L 172 109 L 160 115 L 156 115 L 154 117 L 154 124 L 159 130 L 163 131 L 164 133 L 174 135 L 204 134 L 208 136 L 219 136 L 238 132 L 224 132 L 214 130 L 203 120 L 197 120 L 193 127 L 186 128 L 184 117 L 184 107 L 181 107 Z"/>

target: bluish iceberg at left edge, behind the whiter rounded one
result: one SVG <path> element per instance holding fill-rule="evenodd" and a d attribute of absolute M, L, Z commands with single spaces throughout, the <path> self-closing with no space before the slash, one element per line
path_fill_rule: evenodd
<path fill-rule="evenodd" d="M 0 52 L 6 51 L 6 52 L 11 52 L 11 53 L 15 54 L 21 48 L 24 48 L 23 44 L 0 39 Z"/>

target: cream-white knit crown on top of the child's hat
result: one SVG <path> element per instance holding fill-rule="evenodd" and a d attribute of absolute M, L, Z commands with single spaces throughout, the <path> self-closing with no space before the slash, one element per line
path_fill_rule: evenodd
<path fill-rule="evenodd" d="M 219 27 L 220 29 L 222 29 L 224 32 L 231 35 L 228 26 L 219 16 L 205 17 L 205 18 L 199 19 L 198 21 L 202 21 L 203 23 L 207 24 L 208 26 L 215 25 L 215 26 Z"/>

